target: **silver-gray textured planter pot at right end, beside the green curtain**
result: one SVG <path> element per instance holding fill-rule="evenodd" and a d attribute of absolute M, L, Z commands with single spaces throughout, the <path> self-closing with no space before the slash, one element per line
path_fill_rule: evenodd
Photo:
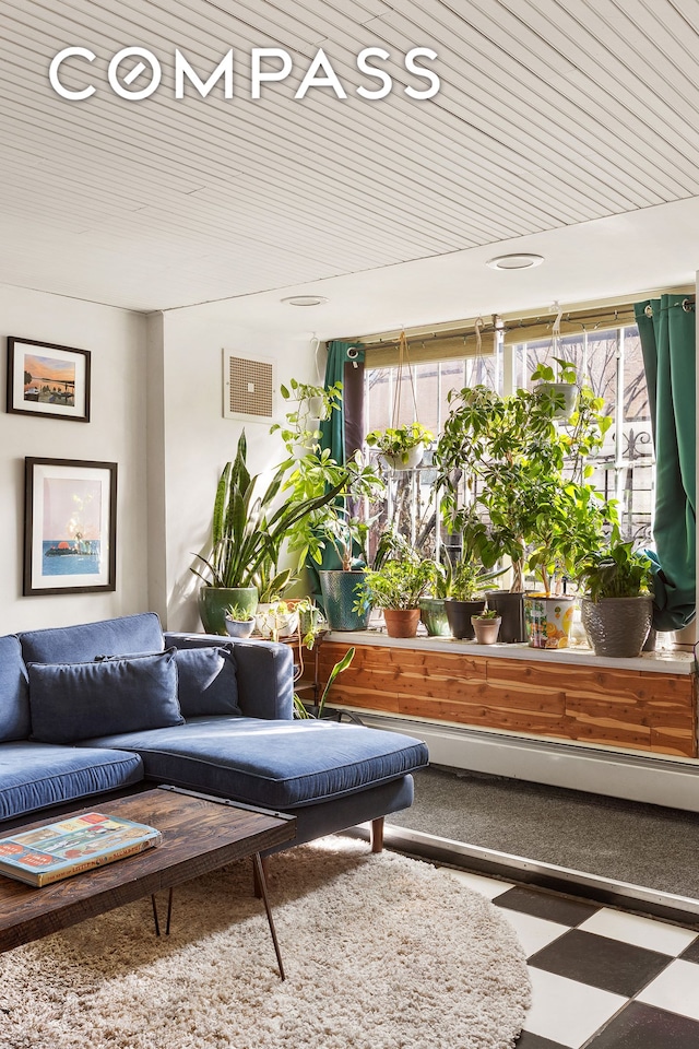
<path fill-rule="evenodd" d="M 640 656 L 653 622 L 653 598 L 582 599 L 582 625 L 595 656 Z"/>

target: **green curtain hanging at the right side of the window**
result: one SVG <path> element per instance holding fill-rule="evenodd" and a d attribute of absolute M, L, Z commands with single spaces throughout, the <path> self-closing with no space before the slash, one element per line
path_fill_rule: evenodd
<path fill-rule="evenodd" d="M 663 295 L 635 305 L 655 444 L 653 626 L 675 630 L 696 610 L 695 298 Z"/>

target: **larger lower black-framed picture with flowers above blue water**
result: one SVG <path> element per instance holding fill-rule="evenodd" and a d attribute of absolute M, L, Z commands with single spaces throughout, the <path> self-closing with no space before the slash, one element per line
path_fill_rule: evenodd
<path fill-rule="evenodd" d="M 117 463 L 25 459 L 24 589 L 116 587 Z"/>

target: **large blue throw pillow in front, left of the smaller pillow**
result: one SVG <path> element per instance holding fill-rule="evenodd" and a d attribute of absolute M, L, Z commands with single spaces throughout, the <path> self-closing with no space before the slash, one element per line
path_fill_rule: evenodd
<path fill-rule="evenodd" d="M 93 736 L 182 724 L 175 649 L 90 663 L 28 663 L 32 739 Z"/>

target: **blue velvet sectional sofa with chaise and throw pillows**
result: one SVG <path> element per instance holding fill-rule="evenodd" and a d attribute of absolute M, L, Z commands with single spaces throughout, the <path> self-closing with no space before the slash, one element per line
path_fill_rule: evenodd
<path fill-rule="evenodd" d="M 0 832 L 153 783 L 293 813 L 296 844 L 412 804 L 424 743 L 295 720 L 293 696 L 287 646 L 154 613 L 0 637 Z"/>

